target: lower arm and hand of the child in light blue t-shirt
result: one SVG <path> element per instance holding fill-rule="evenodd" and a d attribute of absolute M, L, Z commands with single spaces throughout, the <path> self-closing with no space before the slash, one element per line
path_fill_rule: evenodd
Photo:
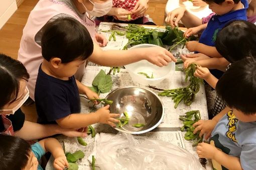
<path fill-rule="evenodd" d="M 212 144 L 199 143 L 196 147 L 196 152 L 199 157 L 210 158 L 225 166 L 227 169 L 242 169 L 240 159 L 235 156 L 228 155 L 217 149 Z"/>

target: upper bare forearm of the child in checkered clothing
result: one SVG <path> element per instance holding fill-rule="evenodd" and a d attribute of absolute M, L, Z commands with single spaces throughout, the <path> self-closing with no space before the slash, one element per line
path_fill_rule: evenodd
<path fill-rule="evenodd" d="M 228 62 L 224 57 L 220 58 L 209 58 L 197 61 L 198 65 L 207 67 L 209 69 L 219 69 L 221 71 L 226 71 L 226 67 L 230 62 Z"/>

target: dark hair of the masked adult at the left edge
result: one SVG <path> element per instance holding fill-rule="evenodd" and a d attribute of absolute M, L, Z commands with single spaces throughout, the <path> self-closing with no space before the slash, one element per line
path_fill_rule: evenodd
<path fill-rule="evenodd" d="M 29 79 L 25 66 L 20 61 L 0 53 L 0 109 L 16 100 L 21 79 Z"/>

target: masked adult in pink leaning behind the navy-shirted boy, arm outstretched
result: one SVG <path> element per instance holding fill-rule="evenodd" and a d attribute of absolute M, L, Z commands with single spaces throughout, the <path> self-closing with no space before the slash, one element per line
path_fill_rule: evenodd
<path fill-rule="evenodd" d="M 112 0 L 39 0 L 31 11 L 24 27 L 18 54 L 18 60 L 25 65 L 30 74 L 28 88 L 33 100 L 38 68 L 43 60 L 41 30 L 47 22 L 51 22 L 58 17 L 72 16 L 88 29 L 92 39 L 96 41 L 94 41 L 93 53 L 88 60 L 96 64 L 121 66 L 147 59 L 158 66 L 163 66 L 172 60 L 176 61 L 174 56 L 162 47 L 103 51 L 99 44 L 105 46 L 107 40 L 95 32 L 95 23 L 86 16 L 86 12 L 93 16 L 103 16 L 111 9 L 111 6 Z M 83 73 L 84 65 L 81 65 L 75 74 L 76 79 L 81 79 Z"/>

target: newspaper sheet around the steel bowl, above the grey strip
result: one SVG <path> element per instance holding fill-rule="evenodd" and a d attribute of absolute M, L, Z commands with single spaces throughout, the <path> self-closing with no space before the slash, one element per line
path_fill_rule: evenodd
<path fill-rule="evenodd" d="M 102 66 L 87 66 L 84 77 L 82 79 L 82 83 L 87 86 L 91 86 L 94 77 L 100 71 L 100 69 L 103 69 L 105 72 L 108 72 L 110 68 Z M 164 79 L 159 85 L 157 85 L 157 87 L 164 89 L 183 87 L 187 85 L 184 79 L 184 72 L 174 71 L 170 74 L 168 79 Z M 147 88 L 155 92 L 156 94 L 159 92 L 157 90 L 149 88 L 148 86 L 144 86 L 137 82 L 134 82 L 129 73 L 125 69 L 120 69 L 119 73 L 117 73 L 116 75 L 112 75 L 112 80 L 112 90 L 118 87 L 140 86 L 143 88 Z M 100 94 L 100 97 L 104 98 L 106 95 L 107 93 Z M 190 110 L 199 110 L 201 113 L 201 118 L 208 119 L 207 103 L 203 84 L 201 84 L 200 90 L 196 94 L 195 101 L 190 106 L 186 106 L 183 102 L 181 102 L 175 109 L 175 103 L 173 102 L 171 97 L 160 96 L 160 98 L 164 104 L 165 114 L 162 123 L 158 127 L 181 127 L 182 121 L 179 120 L 179 115 L 184 115 L 185 112 Z M 84 98 L 81 99 L 81 111 L 85 113 L 90 111 L 88 100 Z"/>

